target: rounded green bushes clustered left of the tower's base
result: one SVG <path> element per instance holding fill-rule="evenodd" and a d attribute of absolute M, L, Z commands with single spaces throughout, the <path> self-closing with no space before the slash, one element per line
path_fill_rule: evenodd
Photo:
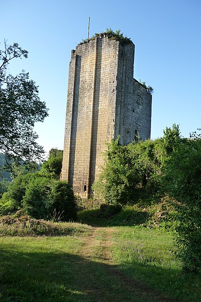
<path fill-rule="evenodd" d="M 41 172 L 18 176 L 9 185 L 0 201 L 0 214 L 23 208 L 36 219 L 61 221 L 76 219 L 76 203 L 71 186 Z"/>

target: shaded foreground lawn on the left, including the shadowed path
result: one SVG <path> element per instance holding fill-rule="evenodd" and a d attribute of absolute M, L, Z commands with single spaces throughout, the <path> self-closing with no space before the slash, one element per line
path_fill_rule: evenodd
<path fill-rule="evenodd" d="M 110 266 L 69 253 L 1 250 L 2 301 L 174 301 Z M 157 273 L 157 269 L 156 274 Z M 175 275 L 159 270 L 169 276 Z M 160 279 L 166 284 L 166 279 Z M 180 284 L 181 287 L 181 284 Z M 182 288 L 181 288 L 182 290 Z"/>

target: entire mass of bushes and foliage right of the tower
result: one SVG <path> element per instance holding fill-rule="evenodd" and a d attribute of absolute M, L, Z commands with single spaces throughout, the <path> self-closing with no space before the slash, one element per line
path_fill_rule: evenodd
<path fill-rule="evenodd" d="M 152 203 L 162 202 L 162 216 L 165 210 L 171 215 L 174 213 L 176 252 L 183 262 L 183 269 L 199 273 L 200 188 L 200 135 L 193 133 L 189 139 L 184 139 L 175 124 L 172 128 L 167 127 L 164 136 L 154 141 L 127 146 L 120 146 L 119 140 L 112 141 L 108 144 L 102 173 L 93 185 L 95 196 L 110 205 L 139 205 L 139 190 L 143 190 L 149 200 L 147 214 L 154 209 Z M 146 215 L 144 210 L 141 214 Z M 166 217 L 168 223 L 168 215 Z"/>

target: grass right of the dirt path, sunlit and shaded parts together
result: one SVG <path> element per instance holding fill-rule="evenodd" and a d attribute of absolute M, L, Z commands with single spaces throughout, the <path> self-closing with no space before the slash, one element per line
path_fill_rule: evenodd
<path fill-rule="evenodd" d="M 182 264 L 173 253 L 171 234 L 120 227 L 115 242 L 113 257 L 124 274 L 177 300 L 201 300 L 201 276 L 183 273 Z"/>

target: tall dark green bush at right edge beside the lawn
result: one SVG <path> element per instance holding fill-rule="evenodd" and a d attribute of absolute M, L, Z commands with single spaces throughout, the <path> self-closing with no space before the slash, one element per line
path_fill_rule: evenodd
<path fill-rule="evenodd" d="M 164 190 L 174 199 L 177 253 L 184 269 L 201 272 L 201 140 L 183 140 L 167 161 Z"/>

